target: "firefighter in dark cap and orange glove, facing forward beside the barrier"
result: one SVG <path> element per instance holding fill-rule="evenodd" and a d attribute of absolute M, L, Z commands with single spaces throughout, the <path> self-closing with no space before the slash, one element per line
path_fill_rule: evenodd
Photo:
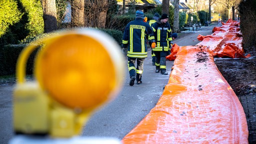
<path fill-rule="evenodd" d="M 168 18 L 168 15 L 163 13 L 152 25 L 153 33 L 149 37 L 155 54 L 155 72 L 161 72 L 163 75 L 168 74 L 166 72 L 166 54 L 172 40 L 170 24 L 167 22 Z"/>

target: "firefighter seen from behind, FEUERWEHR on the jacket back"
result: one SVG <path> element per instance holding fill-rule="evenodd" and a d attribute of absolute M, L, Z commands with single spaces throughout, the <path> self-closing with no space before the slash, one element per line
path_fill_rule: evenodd
<path fill-rule="evenodd" d="M 126 25 L 122 38 L 122 51 L 127 50 L 130 86 L 135 80 L 137 84 L 142 83 L 143 62 L 147 57 L 146 36 L 152 32 L 150 25 L 143 21 L 143 11 L 137 10 L 135 15 L 135 20 Z M 135 62 L 137 62 L 136 67 Z"/>

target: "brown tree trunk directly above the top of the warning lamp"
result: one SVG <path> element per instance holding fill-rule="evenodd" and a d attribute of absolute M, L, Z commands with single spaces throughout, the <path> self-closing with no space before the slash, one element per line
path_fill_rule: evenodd
<path fill-rule="evenodd" d="M 71 0 L 71 25 L 84 26 L 84 0 Z"/>

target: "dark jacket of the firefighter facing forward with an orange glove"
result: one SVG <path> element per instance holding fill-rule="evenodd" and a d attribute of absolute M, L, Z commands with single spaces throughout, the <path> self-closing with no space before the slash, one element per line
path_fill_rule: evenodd
<path fill-rule="evenodd" d="M 156 43 L 155 48 L 152 48 L 153 51 L 168 51 L 172 40 L 170 24 L 161 23 L 160 19 L 157 19 L 151 27 L 153 33 L 149 35 L 149 40 Z"/>

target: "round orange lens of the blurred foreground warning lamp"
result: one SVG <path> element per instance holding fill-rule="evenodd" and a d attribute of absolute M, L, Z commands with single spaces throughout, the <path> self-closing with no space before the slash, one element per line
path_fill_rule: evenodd
<path fill-rule="evenodd" d="M 122 61 L 122 57 L 115 58 Z M 36 61 L 35 73 L 41 87 L 71 108 L 92 108 L 105 102 L 123 77 L 116 72 L 120 67 L 116 67 L 100 36 L 95 39 L 69 33 L 49 38 Z"/>

